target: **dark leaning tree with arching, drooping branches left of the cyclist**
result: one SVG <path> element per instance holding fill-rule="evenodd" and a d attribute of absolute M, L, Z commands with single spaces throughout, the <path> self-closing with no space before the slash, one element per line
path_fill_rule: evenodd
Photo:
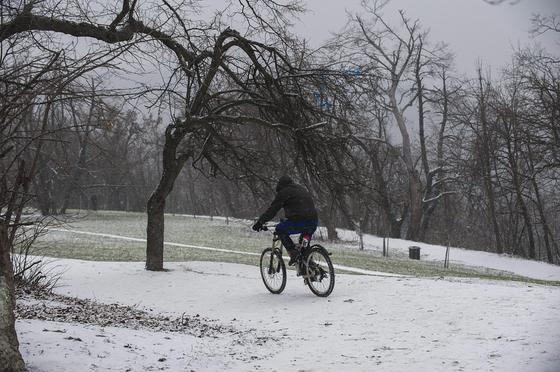
<path fill-rule="evenodd" d="M 189 21 L 194 6 L 190 2 L 123 0 L 112 17 L 107 11 L 99 16 L 93 7 L 70 3 L 31 1 L 11 9 L 8 21 L 0 26 L 0 41 L 21 34 L 57 33 L 120 47 L 127 43 L 131 57 L 147 58 L 142 55 L 144 45 L 174 57 L 160 97 L 181 108 L 165 129 L 162 174 L 147 204 L 146 268 L 161 270 L 166 197 L 189 159 L 205 157 L 207 146 L 221 137 L 217 134 L 224 127 L 265 126 L 301 139 L 306 128 L 317 123 L 300 81 L 306 75 L 291 65 L 291 41 L 283 37 L 284 15 L 299 7 L 240 1 L 239 14 L 248 24 L 248 31 L 241 34 L 219 20 Z"/>

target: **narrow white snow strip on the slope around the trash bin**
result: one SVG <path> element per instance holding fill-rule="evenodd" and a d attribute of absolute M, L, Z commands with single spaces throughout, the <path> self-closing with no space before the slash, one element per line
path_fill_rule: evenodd
<path fill-rule="evenodd" d="M 337 229 L 337 232 L 342 240 L 356 241 L 358 239 L 357 234 L 353 231 Z M 383 238 L 364 234 L 364 244 L 365 249 L 381 250 Z M 420 247 L 420 259 L 422 260 L 443 261 L 445 258 L 445 246 L 403 239 L 389 239 L 389 254 L 397 251 L 401 255 L 406 254 L 408 256 L 408 247 L 411 246 Z M 509 271 L 533 279 L 560 281 L 560 266 L 558 265 L 511 257 L 505 254 L 499 255 L 451 247 L 449 260 L 451 263 Z"/>

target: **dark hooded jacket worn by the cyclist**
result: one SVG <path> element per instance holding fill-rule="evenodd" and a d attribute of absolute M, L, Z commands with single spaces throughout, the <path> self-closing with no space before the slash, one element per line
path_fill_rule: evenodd
<path fill-rule="evenodd" d="M 284 208 L 284 214 L 288 220 L 316 220 L 317 211 L 313 204 L 311 194 L 302 186 L 295 184 L 288 176 L 282 176 L 276 185 L 276 197 L 270 207 L 259 218 L 259 222 L 265 223 L 274 218 L 280 209 Z"/>

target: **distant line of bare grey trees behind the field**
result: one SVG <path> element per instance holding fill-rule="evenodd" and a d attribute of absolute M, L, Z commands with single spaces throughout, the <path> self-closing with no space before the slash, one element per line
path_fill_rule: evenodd
<path fill-rule="evenodd" d="M 301 138 L 271 125 L 201 133 L 165 210 L 254 218 L 291 174 L 315 195 L 332 239 L 338 226 L 557 263 L 558 57 L 518 50 L 499 76 L 482 65 L 459 76 L 418 21 L 401 13 L 390 25 L 381 10 L 366 5 L 319 51 L 293 44 L 286 54 L 308 73 L 290 89 L 315 105 L 302 108 L 308 122 L 324 126 Z M 48 134 L 33 205 L 45 215 L 145 211 L 163 172 L 165 119 L 123 105 L 99 79 L 51 94 L 18 113 Z M 251 99 L 235 104 L 238 116 L 254 112 Z"/>

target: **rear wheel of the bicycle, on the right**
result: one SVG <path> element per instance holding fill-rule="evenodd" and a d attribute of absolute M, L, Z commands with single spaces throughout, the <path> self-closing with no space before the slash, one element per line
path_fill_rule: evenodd
<path fill-rule="evenodd" d="M 314 245 L 305 256 L 305 281 L 311 292 L 319 297 L 327 297 L 334 289 L 334 267 L 329 252 L 320 245 Z"/>

